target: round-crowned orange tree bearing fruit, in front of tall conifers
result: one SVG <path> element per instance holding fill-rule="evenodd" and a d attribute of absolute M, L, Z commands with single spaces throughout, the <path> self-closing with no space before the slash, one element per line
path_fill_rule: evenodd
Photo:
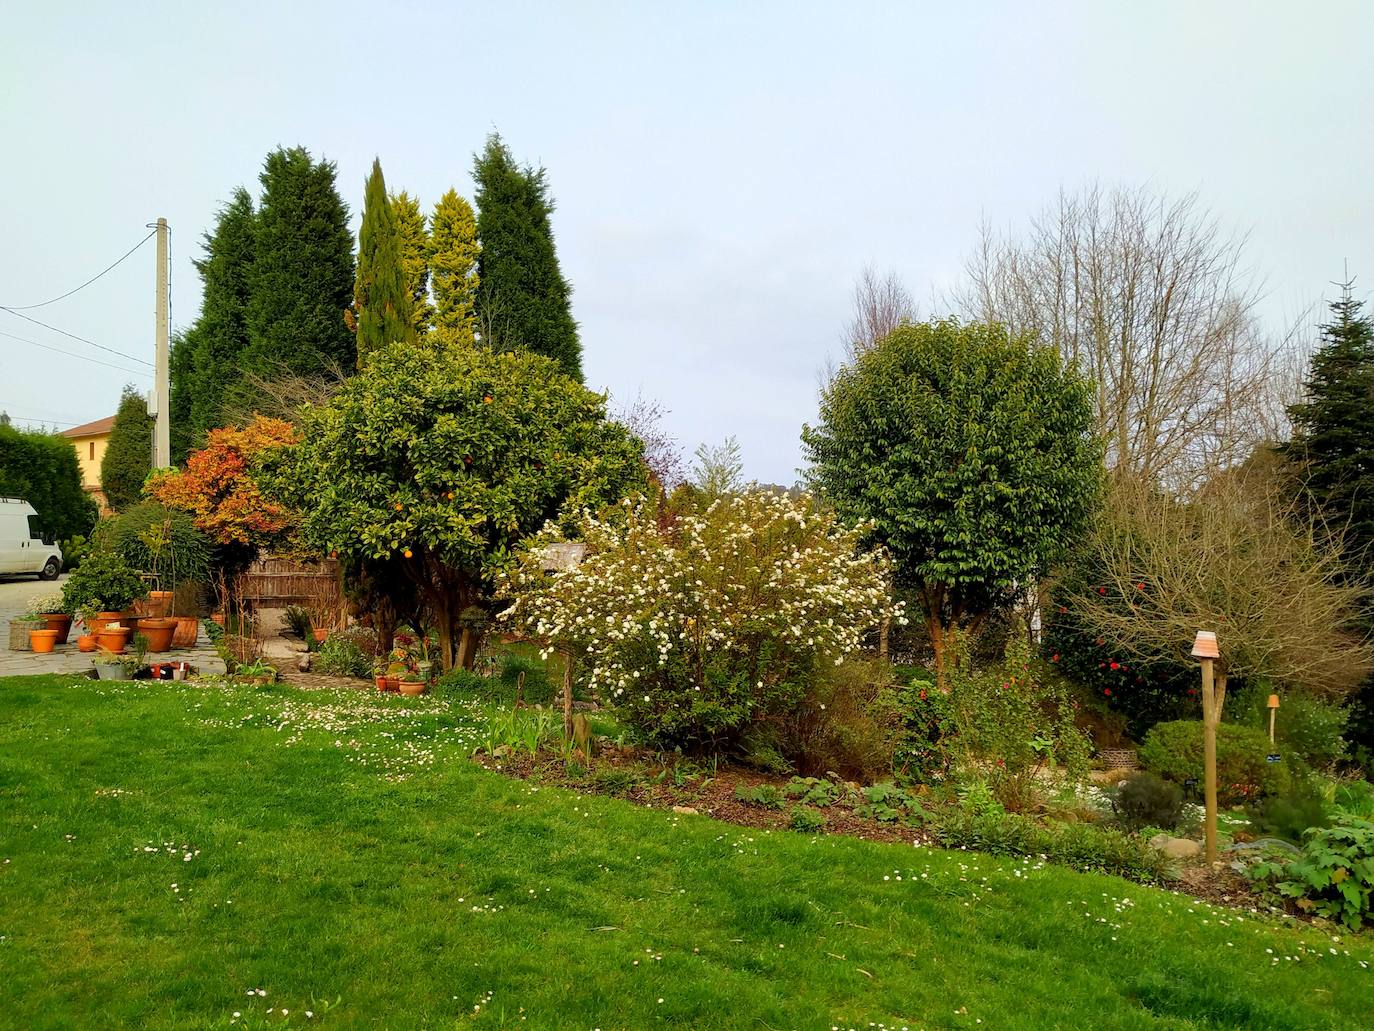
<path fill-rule="evenodd" d="M 433 341 L 433 338 L 431 338 Z M 495 576 L 550 520 L 646 485 L 606 399 L 530 353 L 393 344 L 300 415 L 269 483 L 300 542 L 394 570 L 423 595 L 444 668 L 471 668 Z"/>

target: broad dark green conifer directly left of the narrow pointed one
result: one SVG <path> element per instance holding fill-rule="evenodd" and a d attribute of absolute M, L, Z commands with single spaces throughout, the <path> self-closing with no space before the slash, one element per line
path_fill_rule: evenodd
<path fill-rule="evenodd" d="M 353 234 L 331 161 L 304 147 L 268 154 L 249 271 L 245 371 L 300 375 L 357 360 L 344 309 L 353 298 Z"/>

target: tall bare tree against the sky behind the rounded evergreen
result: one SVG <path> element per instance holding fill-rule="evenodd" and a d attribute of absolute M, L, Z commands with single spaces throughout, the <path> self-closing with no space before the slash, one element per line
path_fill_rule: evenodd
<path fill-rule="evenodd" d="M 1061 194 L 1024 236 L 985 227 L 956 301 L 1079 364 L 1112 466 L 1193 484 L 1274 425 L 1279 346 L 1256 319 L 1243 250 L 1193 194 L 1091 188 Z"/>

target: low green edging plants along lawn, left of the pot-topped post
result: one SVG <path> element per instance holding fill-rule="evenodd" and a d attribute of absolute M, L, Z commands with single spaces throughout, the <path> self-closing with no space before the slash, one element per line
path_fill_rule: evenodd
<path fill-rule="evenodd" d="M 1169 870 L 1169 859 L 1147 841 L 1091 823 L 1040 825 L 1017 812 L 976 814 L 948 810 L 934 822 L 945 848 L 973 848 L 992 855 L 1046 856 L 1079 870 L 1096 870 L 1153 884 Z"/>

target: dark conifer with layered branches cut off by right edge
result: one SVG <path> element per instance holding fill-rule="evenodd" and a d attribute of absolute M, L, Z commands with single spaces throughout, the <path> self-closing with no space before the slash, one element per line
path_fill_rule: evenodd
<path fill-rule="evenodd" d="M 1374 324 L 1362 308 L 1345 283 L 1312 355 L 1305 400 L 1289 410 L 1294 433 L 1283 448 L 1358 566 L 1374 547 Z"/>

